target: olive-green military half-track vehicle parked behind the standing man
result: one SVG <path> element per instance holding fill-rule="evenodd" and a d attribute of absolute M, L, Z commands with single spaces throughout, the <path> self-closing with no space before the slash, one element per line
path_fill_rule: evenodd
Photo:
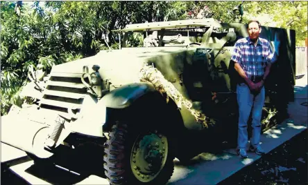
<path fill-rule="evenodd" d="M 248 37 L 245 24 L 192 19 L 114 32 L 119 50 L 53 66 L 48 75 L 31 71 L 22 95 L 33 102 L 1 117 L 1 142 L 35 162 L 59 147 L 94 144 L 110 184 L 165 184 L 175 157 L 236 142 L 238 77 L 230 57 L 237 39 Z M 131 32 L 144 35 L 144 47 L 126 47 Z M 261 37 L 278 56 L 266 81 L 265 129 L 293 99 L 295 32 L 262 27 Z"/>

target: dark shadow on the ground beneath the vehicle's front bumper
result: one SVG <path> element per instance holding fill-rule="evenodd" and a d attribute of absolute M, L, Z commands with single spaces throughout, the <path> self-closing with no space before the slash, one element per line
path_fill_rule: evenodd
<path fill-rule="evenodd" d="M 103 155 L 99 155 L 97 148 L 95 149 L 94 152 L 94 148 L 61 148 L 58 155 L 53 155 L 44 162 L 35 162 L 26 169 L 26 173 L 50 184 L 77 184 L 89 175 L 105 178 Z"/>

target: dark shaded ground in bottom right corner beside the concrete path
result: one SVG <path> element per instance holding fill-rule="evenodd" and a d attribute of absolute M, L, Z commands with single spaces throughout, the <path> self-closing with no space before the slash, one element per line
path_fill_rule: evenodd
<path fill-rule="evenodd" d="M 278 146 L 219 185 L 229 184 L 308 184 L 308 130 Z"/>

